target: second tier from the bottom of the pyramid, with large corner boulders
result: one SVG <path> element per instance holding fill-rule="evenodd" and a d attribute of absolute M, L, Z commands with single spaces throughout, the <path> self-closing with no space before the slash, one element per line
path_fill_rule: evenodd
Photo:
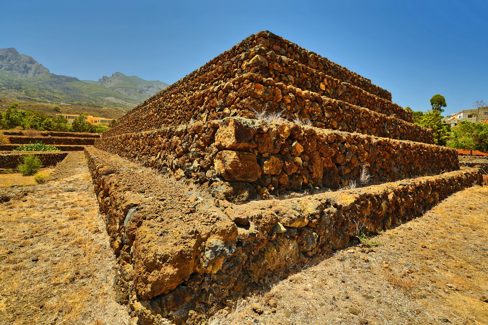
<path fill-rule="evenodd" d="M 190 178 L 234 202 L 302 188 L 337 189 L 356 180 L 362 166 L 375 182 L 458 169 L 451 148 L 245 118 L 103 137 L 95 147 L 168 168 L 176 179 Z"/>

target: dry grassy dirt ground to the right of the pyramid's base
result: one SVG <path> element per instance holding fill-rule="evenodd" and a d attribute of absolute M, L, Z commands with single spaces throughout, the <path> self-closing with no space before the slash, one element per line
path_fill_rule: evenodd
<path fill-rule="evenodd" d="M 487 238 L 488 187 L 476 186 L 209 324 L 488 324 Z"/>

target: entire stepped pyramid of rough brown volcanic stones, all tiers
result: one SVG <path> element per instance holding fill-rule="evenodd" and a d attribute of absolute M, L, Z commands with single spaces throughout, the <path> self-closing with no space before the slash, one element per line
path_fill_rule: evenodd
<path fill-rule="evenodd" d="M 479 181 L 411 118 L 325 57 L 268 31 L 244 39 L 85 149 L 121 267 L 118 299 L 140 324 L 197 324 L 291 264 L 344 248 L 358 223 L 375 233 Z M 335 191 L 362 172 L 376 185 Z M 317 194 L 283 199 L 304 190 Z"/>

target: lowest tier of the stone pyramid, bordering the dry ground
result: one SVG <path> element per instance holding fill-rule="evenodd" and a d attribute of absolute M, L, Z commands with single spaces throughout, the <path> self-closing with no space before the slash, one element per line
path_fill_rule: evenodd
<path fill-rule="evenodd" d="M 232 205 L 170 184 L 149 169 L 122 168 L 101 150 L 86 148 L 85 156 L 120 268 L 117 300 L 144 325 L 162 317 L 184 324 L 195 317 L 192 310 L 208 315 L 232 306 L 293 268 L 346 247 L 358 235 L 357 225 L 366 234 L 390 228 L 481 180 L 478 169 L 466 168 Z"/>

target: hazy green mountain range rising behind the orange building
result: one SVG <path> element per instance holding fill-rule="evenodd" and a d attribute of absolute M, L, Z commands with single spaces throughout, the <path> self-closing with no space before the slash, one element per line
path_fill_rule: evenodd
<path fill-rule="evenodd" d="M 23 96 L 72 105 L 131 109 L 168 87 L 120 72 L 99 81 L 60 76 L 16 49 L 0 49 L 0 90 Z"/>

